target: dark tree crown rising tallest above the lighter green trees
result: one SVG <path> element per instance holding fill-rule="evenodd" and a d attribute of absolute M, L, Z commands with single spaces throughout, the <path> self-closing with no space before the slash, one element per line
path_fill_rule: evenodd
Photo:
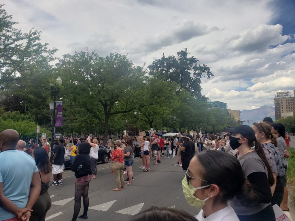
<path fill-rule="evenodd" d="M 168 82 L 179 84 L 178 92 L 186 89 L 195 96 L 201 96 L 201 78 L 207 76 L 209 79 L 212 75 L 207 65 L 198 65 L 199 60 L 195 57 L 188 57 L 188 50 L 185 48 L 177 52 L 177 57 L 163 54 L 161 59 L 153 61 L 148 66 L 150 75 L 163 74 Z"/>

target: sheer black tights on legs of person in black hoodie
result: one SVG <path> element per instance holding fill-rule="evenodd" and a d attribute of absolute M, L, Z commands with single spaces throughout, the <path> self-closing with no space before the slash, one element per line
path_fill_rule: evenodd
<path fill-rule="evenodd" d="M 78 214 L 81 209 L 81 197 L 83 197 L 83 215 L 82 216 L 87 216 L 87 211 L 89 207 L 89 198 L 88 198 L 88 189 L 89 189 L 89 183 L 84 186 L 76 182 L 75 184 L 75 206 L 74 206 L 74 214 L 72 221 L 76 221 Z"/>

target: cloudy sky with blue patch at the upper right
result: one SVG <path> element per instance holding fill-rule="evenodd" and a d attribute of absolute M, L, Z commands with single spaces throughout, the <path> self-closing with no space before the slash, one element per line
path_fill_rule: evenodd
<path fill-rule="evenodd" d="M 88 47 L 100 56 L 128 53 L 143 66 L 188 48 L 214 74 L 203 80 L 202 93 L 232 110 L 273 106 L 275 92 L 295 89 L 294 0 L 4 3 L 23 32 L 43 32 L 57 57 Z"/>

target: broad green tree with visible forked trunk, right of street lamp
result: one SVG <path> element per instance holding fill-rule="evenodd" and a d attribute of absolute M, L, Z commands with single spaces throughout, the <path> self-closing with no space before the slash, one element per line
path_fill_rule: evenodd
<path fill-rule="evenodd" d="M 57 64 L 63 77 L 63 100 L 73 95 L 73 105 L 83 108 L 103 126 L 104 143 L 111 116 L 128 113 L 140 99 L 144 73 L 126 55 L 111 53 L 100 57 L 95 52 L 64 55 Z M 92 120 L 92 119 L 90 119 Z"/>

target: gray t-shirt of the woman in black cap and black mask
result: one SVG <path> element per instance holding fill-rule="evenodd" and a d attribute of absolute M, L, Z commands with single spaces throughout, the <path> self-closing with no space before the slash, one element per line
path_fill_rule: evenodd
<path fill-rule="evenodd" d="M 256 152 L 250 152 L 243 156 L 240 159 L 240 164 L 246 177 L 254 172 L 265 172 L 268 177 L 267 168 Z M 235 210 L 235 213 L 243 216 L 258 213 L 265 209 L 269 204 L 270 203 L 258 203 L 253 206 L 245 207 L 236 197 L 230 201 L 230 206 Z"/>

